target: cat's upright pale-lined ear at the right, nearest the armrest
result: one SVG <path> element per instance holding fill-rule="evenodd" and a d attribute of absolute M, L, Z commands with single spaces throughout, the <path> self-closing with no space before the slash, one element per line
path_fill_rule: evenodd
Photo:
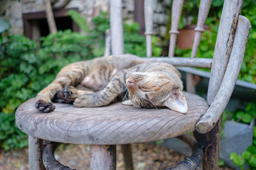
<path fill-rule="evenodd" d="M 186 98 L 181 91 L 181 89 L 174 89 L 174 91 L 169 94 L 169 97 L 164 101 L 164 106 L 170 108 L 173 111 L 178 111 L 180 113 L 188 112 L 188 103 Z"/>

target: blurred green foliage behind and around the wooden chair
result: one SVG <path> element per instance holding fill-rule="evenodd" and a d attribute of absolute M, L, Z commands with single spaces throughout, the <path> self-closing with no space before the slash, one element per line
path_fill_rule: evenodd
<path fill-rule="evenodd" d="M 186 1 L 183 6 L 181 23 L 179 28 L 186 26 L 186 18 L 196 16 L 198 13 L 198 0 Z M 213 0 L 210 7 L 206 25 L 209 29 L 203 33 L 201 45 L 197 57 L 213 57 L 215 40 L 217 38 L 219 18 L 223 1 Z M 256 84 L 256 1 L 245 0 L 241 15 L 249 18 L 252 30 L 247 42 L 245 58 L 238 79 Z M 9 29 L 9 24 L 1 20 L 0 35 L 0 147 L 5 150 L 23 148 L 28 145 L 27 136 L 16 127 L 15 111 L 21 103 L 36 96 L 45 86 L 50 84 L 58 71 L 65 65 L 79 60 L 90 60 L 100 57 L 105 51 L 105 30 L 110 28 L 110 20 L 107 13 L 101 12 L 99 16 L 92 18 L 94 28 L 87 23 L 76 11 L 68 11 L 68 15 L 85 32 L 85 35 L 71 30 L 58 31 L 58 33 L 41 38 L 41 42 L 29 40 L 24 35 L 4 35 Z M 169 16 L 171 12 L 169 11 Z M 191 24 L 196 23 L 193 18 Z M 168 23 L 168 27 L 170 22 Z M 153 56 L 162 56 L 166 38 L 154 36 Z M 159 46 L 163 45 L 163 46 Z M 140 57 L 146 56 L 146 44 L 144 35 L 139 35 L 139 24 L 124 23 L 124 53 L 131 53 Z M 176 47 L 176 56 L 190 57 L 191 49 L 180 50 Z M 247 104 L 245 109 L 238 109 L 230 114 L 230 119 L 250 123 L 256 117 L 255 101 Z M 256 165 L 256 130 L 254 142 L 249 151 L 244 155 L 232 155 L 244 161 Z M 253 149 L 252 149 L 253 148 Z M 250 155 L 248 156 L 248 152 Z M 240 162 L 236 162 L 242 166 Z"/>

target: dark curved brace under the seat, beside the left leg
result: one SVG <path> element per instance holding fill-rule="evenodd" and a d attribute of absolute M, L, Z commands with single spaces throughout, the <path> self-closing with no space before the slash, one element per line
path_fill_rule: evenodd
<path fill-rule="evenodd" d="M 75 170 L 60 164 L 60 162 L 55 159 L 54 152 L 59 145 L 60 143 L 57 142 L 49 142 L 43 149 L 43 165 L 46 167 L 46 170 Z"/>

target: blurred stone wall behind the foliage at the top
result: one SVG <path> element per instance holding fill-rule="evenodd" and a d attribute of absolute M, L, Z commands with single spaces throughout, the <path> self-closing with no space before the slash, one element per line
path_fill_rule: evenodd
<path fill-rule="evenodd" d="M 53 8 L 59 8 L 58 0 L 51 0 Z M 109 0 L 63 0 L 67 2 L 65 8 L 78 8 L 81 15 L 90 23 L 92 17 L 97 16 L 100 11 L 109 11 Z M 61 2 L 63 2 L 61 1 Z M 134 21 L 134 1 L 123 0 L 123 18 L 127 23 Z M 154 32 L 162 38 L 167 33 L 166 23 L 168 10 L 171 0 L 154 0 Z M 22 13 L 32 13 L 38 11 L 45 11 L 43 0 L 21 0 L 20 2 L 14 0 L 0 1 L 1 16 L 11 23 L 9 34 L 23 33 Z"/>

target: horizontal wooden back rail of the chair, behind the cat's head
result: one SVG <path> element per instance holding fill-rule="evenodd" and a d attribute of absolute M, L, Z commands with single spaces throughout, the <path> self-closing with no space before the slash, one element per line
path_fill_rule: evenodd
<path fill-rule="evenodd" d="M 174 66 L 188 66 L 188 67 L 199 67 L 210 69 L 211 64 L 213 62 L 212 59 L 208 58 L 186 58 L 186 57 L 151 57 L 149 62 L 167 62 L 169 64 L 173 64 Z"/>

